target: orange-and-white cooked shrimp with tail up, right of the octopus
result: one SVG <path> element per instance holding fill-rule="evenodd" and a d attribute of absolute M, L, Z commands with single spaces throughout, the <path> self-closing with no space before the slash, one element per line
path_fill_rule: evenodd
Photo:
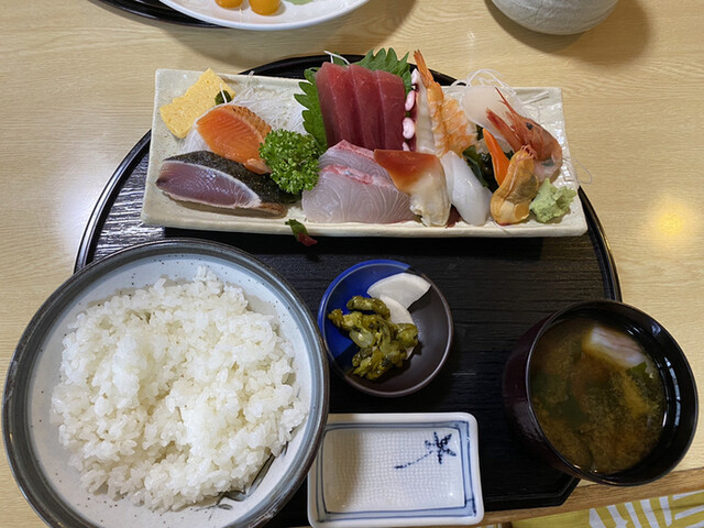
<path fill-rule="evenodd" d="M 452 151 L 461 155 L 476 143 L 476 130 L 460 103 L 452 97 L 444 97 L 442 87 L 433 79 L 419 51 L 414 53 L 414 58 L 426 91 L 436 144 L 435 154 L 442 156 L 446 152 Z"/>

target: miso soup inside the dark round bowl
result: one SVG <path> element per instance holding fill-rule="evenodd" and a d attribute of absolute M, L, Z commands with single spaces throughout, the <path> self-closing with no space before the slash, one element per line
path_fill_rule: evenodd
<path fill-rule="evenodd" d="M 530 387 L 546 436 L 584 471 L 627 470 L 658 442 L 662 380 L 623 330 L 587 317 L 558 322 L 536 343 Z"/>

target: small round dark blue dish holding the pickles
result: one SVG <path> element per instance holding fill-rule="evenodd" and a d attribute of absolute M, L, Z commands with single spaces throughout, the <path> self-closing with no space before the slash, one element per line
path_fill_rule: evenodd
<path fill-rule="evenodd" d="M 346 312 L 345 305 L 353 296 L 366 296 L 372 284 L 398 273 L 419 275 L 430 284 L 430 289 L 408 309 L 418 327 L 418 345 L 403 367 L 370 381 L 351 373 L 352 356 L 359 348 L 328 319 L 328 314 L 336 308 Z M 318 327 L 332 369 L 353 387 L 384 397 L 405 396 L 428 385 L 448 359 L 453 337 L 452 315 L 440 289 L 410 265 L 391 260 L 364 261 L 338 275 L 320 301 Z"/>

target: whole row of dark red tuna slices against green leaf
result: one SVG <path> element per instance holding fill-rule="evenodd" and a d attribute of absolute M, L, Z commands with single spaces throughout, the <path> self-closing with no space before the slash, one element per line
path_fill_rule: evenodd
<path fill-rule="evenodd" d="M 345 140 L 370 150 L 402 147 L 406 89 L 399 76 L 324 63 L 316 87 L 328 145 Z"/>

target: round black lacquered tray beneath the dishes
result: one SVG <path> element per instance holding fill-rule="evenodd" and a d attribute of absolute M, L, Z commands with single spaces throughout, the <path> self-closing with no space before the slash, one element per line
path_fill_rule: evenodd
<path fill-rule="evenodd" d="M 285 59 L 258 75 L 298 77 L 326 57 Z M 350 57 L 356 58 L 356 57 Z M 439 81 L 453 79 L 437 74 Z M 76 270 L 125 246 L 172 237 L 232 244 L 283 274 L 315 315 L 328 284 L 343 270 L 370 258 L 406 262 L 443 292 L 454 319 L 454 342 L 442 372 L 420 392 L 377 398 L 356 392 L 331 373 L 331 413 L 466 411 L 480 431 L 480 465 L 487 512 L 553 506 L 578 484 L 543 464 L 514 438 L 504 417 L 502 371 L 518 337 L 548 314 L 588 299 L 620 300 L 614 262 L 586 195 L 580 190 L 588 230 L 582 237 L 548 239 L 319 238 L 306 248 L 287 235 L 186 231 L 140 221 L 147 168 L 147 133 L 118 167 L 90 218 Z M 306 488 L 272 521 L 307 524 Z"/>

